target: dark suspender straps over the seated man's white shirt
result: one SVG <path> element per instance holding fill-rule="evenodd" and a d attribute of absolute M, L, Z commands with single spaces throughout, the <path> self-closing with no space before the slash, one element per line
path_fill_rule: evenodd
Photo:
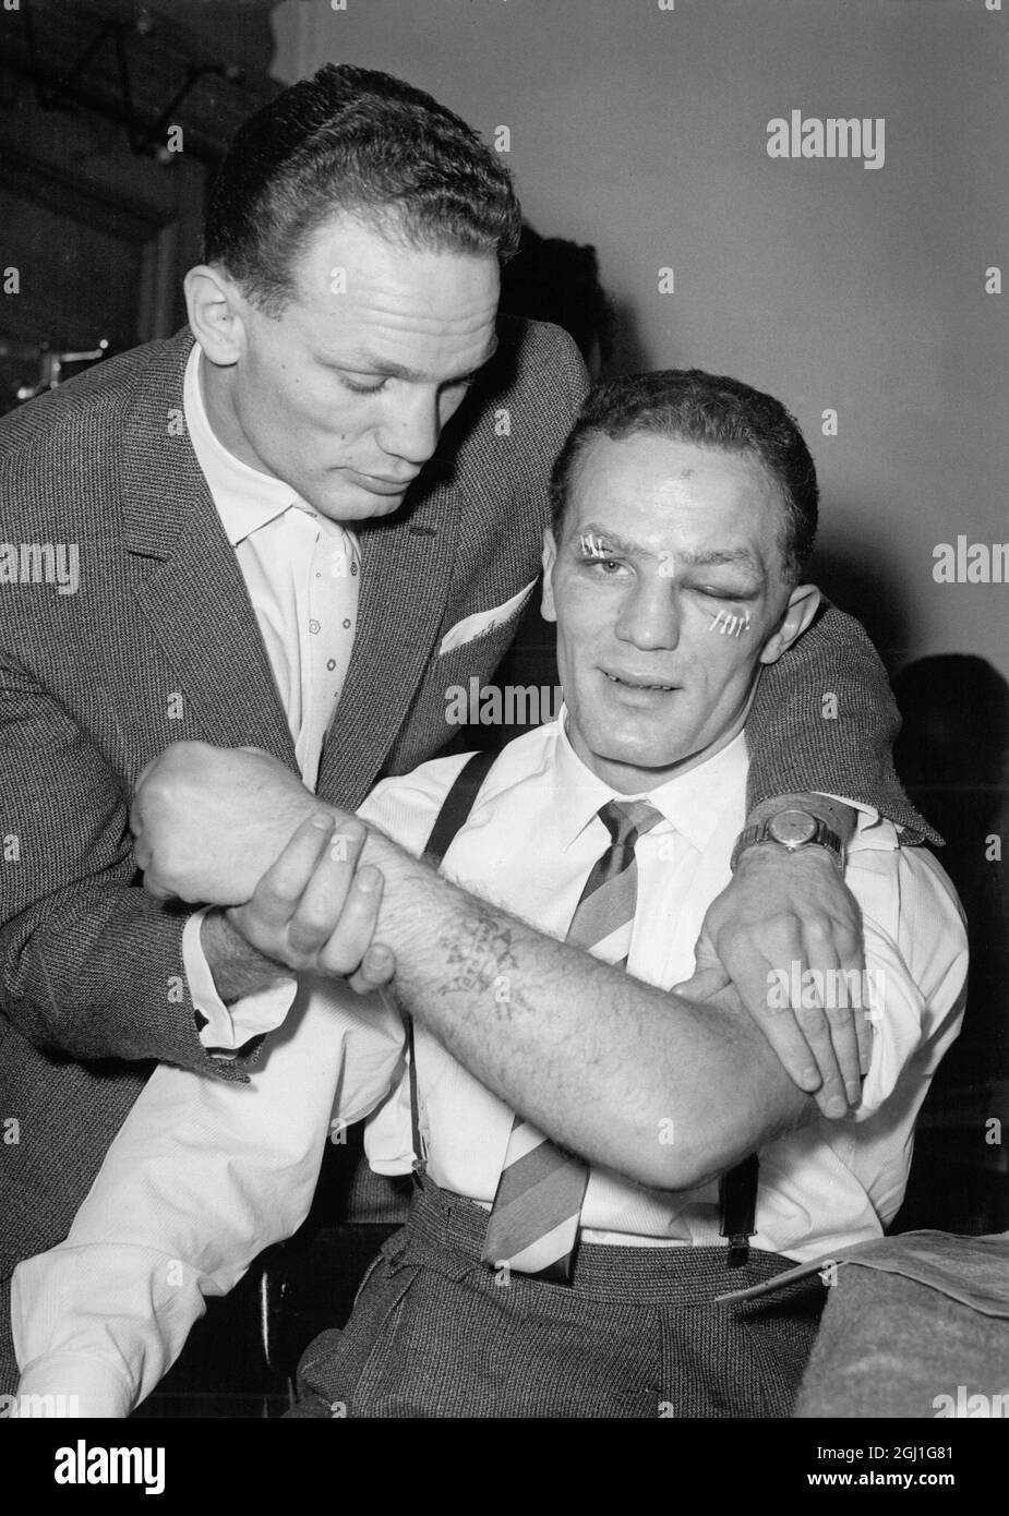
<path fill-rule="evenodd" d="M 457 832 L 466 825 L 466 819 L 496 756 L 496 753 L 473 753 L 460 769 L 435 817 L 425 847 L 425 857 L 435 867 L 442 867 L 442 860 Z M 425 1154 L 420 1146 L 417 1060 L 414 1057 L 413 1020 L 410 1017 L 407 1017 L 407 1035 L 410 1041 L 410 1113 L 413 1120 L 413 1151 L 416 1154 L 414 1181 L 419 1184 Z M 719 1237 L 728 1239 L 728 1248 L 725 1249 L 725 1266 L 728 1269 L 737 1269 L 750 1258 L 750 1239 L 756 1231 L 759 1169 L 757 1155 L 753 1154 L 753 1157 L 743 1158 L 742 1163 L 737 1163 L 734 1169 L 730 1169 L 718 1181 Z"/>

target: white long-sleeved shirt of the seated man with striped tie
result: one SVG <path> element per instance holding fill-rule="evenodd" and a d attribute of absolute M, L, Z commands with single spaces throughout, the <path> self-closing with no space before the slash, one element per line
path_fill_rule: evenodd
<path fill-rule="evenodd" d="M 563 719 L 508 744 L 443 864 L 461 887 L 558 938 L 607 847 L 596 811 L 613 799 L 571 749 Z M 435 760 L 382 782 L 361 816 L 420 854 L 463 763 Z M 636 847 L 631 975 L 665 988 L 689 978 L 707 907 L 730 878 L 745 785 L 740 735 L 648 796 L 663 822 Z M 760 1154 L 754 1245 L 797 1260 L 879 1237 L 894 1216 L 915 1114 L 962 1016 L 967 937 L 935 858 L 901 849 L 889 823 L 862 817 L 847 882 L 863 914 L 872 991 L 862 1102 Z M 373 1167 L 410 1169 L 402 1023 L 381 996 L 334 990 L 332 999 L 341 1017 L 320 1014 L 310 996 L 302 1023 L 282 1032 L 279 1064 L 273 1048 L 250 1088 L 155 1072 L 67 1242 L 15 1272 L 21 1393 L 77 1393 L 85 1414 L 124 1414 L 173 1361 L 202 1295 L 229 1289 L 256 1252 L 300 1223 L 326 1132 L 341 1140 L 350 1108 L 372 1111 Z M 360 1035 L 366 1025 L 370 1040 Z M 513 1113 L 420 1026 L 416 1052 L 428 1170 L 489 1204 Z M 604 1243 L 716 1243 L 716 1186 L 672 1195 L 593 1167 L 583 1228 Z"/>

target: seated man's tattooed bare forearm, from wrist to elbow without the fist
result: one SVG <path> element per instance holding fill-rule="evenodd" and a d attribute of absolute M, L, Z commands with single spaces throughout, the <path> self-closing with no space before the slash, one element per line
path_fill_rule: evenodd
<path fill-rule="evenodd" d="M 404 1005 L 561 1145 L 687 1189 L 753 1151 L 775 1113 L 787 1126 L 804 1110 L 748 1017 L 543 937 L 381 832 L 364 855 L 385 875 L 378 935 L 396 954 Z"/>

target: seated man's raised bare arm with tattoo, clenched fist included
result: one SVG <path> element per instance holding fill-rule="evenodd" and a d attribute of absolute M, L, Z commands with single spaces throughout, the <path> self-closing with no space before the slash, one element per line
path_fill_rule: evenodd
<path fill-rule="evenodd" d="M 147 887 L 247 911 L 278 849 L 310 825 L 288 843 L 297 814 L 317 813 L 335 841 L 364 829 L 266 753 L 179 743 L 134 805 Z M 370 825 L 360 863 L 385 881 L 375 938 L 394 957 L 402 1004 L 589 1160 L 690 1189 L 812 1108 L 734 990 L 684 998 L 633 979 L 446 882 Z M 660 1143 L 669 1120 L 677 1139 Z"/>

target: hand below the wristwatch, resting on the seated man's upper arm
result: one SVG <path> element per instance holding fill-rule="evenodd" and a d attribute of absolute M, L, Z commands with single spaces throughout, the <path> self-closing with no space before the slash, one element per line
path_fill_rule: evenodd
<path fill-rule="evenodd" d="M 839 1117 L 872 1051 L 868 1002 L 851 994 L 863 969 L 862 917 L 835 863 L 818 847 L 759 844 L 709 907 L 695 975 L 675 988 L 704 999 L 731 979 L 789 1076 Z"/>

